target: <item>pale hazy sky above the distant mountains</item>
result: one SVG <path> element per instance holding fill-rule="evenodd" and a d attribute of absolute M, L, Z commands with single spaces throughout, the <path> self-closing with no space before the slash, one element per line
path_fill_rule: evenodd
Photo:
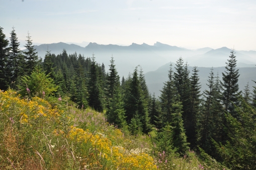
<path fill-rule="evenodd" d="M 256 50 L 256 0 L 0 0 L 0 26 L 34 43 Z"/>

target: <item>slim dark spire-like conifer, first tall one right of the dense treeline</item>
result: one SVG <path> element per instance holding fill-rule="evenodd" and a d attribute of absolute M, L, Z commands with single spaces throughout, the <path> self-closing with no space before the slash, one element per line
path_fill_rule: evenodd
<path fill-rule="evenodd" d="M 88 80 L 88 105 L 95 110 L 103 111 L 103 105 L 101 101 L 101 90 L 98 82 L 98 69 L 95 62 L 94 54 L 92 54 L 92 62 L 89 69 L 89 80 Z"/>

